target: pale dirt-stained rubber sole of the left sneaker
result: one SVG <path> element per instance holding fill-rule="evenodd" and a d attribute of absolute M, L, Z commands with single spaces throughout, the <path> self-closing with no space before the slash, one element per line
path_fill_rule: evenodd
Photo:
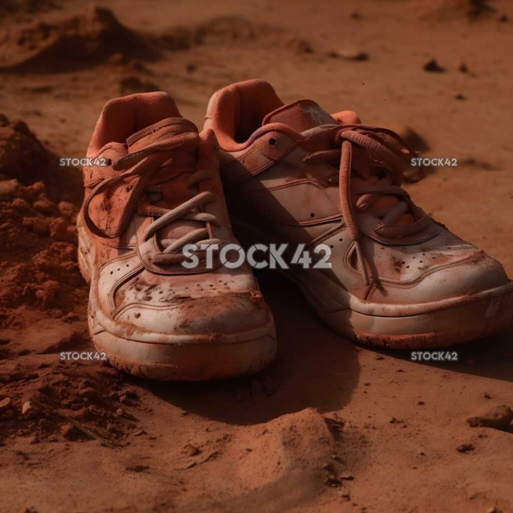
<path fill-rule="evenodd" d="M 88 284 L 92 280 L 91 246 L 79 229 L 78 267 Z M 82 233 L 81 233 L 82 231 Z M 267 305 L 264 305 L 268 309 Z M 123 372 L 139 378 L 163 381 L 207 381 L 251 374 L 268 366 L 276 354 L 276 334 L 272 313 L 268 323 L 257 330 L 223 337 L 166 336 L 163 342 L 129 340 L 109 331 L 115 321 L 105 319 L 98 310 L 96 289 L 89 293 L 88 324 L 97 351 L 106 354 L 108 362 Z M 103 322 L 102 322 L 103 321 Z M 153 335 L 153 333 L 151 334 Z M 133 335 L 132 335 L 133 336 Z"/>

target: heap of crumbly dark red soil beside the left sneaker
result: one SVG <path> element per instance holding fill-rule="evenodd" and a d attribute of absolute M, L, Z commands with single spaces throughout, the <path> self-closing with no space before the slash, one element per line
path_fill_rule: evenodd
<path fill-rule="evenodd" d="M 60 363 L 56 354 L 89 346 L 88 289 L 76 262 L 78 207 L 53 201 L 46 182 L 56 198 L 69 193 L 70 184 L 58 186 L 62 171 L 23 122 L 4 119 L 3 125 L 0 440 L 29 435 L 34 442 L 117 439 L 123 432 L 118 426 L 128 422 L 118 404 L 128 392 L 116 395 L 121 378 L 98 362 L 88 362 L 87 370 L 80 362 Z M 89 421 L 94 432 L 85 426 Z"/>

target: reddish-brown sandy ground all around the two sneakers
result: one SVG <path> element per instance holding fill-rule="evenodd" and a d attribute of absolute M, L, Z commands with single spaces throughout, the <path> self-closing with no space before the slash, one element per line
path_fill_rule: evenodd
<path fill-rule="evenodd" d="M 344 340 L 261 273 L 279 351 L 257 376 L 158 383 L 60 362 L 91 343 L 80 170 L 58 166 L 84 156 L 111 97 L 164 90 L 201 126 L 212 92 L 264 78 L 285 102 L 456 157 L 408 190 L 511 276 L 512 19 L 499 0 L 3 2 L 0 510 L 512 511 L 511 330 L 449 348 L 457 362 L 411 362 Z"/>

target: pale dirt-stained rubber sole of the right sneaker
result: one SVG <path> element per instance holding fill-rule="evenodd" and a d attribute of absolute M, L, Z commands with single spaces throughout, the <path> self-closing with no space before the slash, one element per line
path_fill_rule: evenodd
<path fill-rule="evenodd" d="M 465 302 L 415 315 L 368 315 L 326 301 L 293 271 L 280 271 L 303 292 L 307 302 L 332 329 L 365 345 L 390 349 L 426 349 L 462 344 L 513 325 L 513 283 L 485 291 Z M 332 299 L 332 298 L 331 298 Z M 421 306 L 421 305 L 419 305 Z"/>

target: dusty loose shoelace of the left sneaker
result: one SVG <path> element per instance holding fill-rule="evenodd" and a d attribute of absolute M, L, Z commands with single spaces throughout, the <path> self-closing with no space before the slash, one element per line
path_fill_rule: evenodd
<path fill-rule="evenodd" d="M 162 142 L 155 143 L 145 148 L 129 153 L 112 164 L 112 169 L 126 171 L 106 178 L 100 182 L 89 194 L 87 200 L 84 202 L 83 215 L 87 227 L 95 234 L 103 238 L 115 238 L 120 236 L 130 221 L 132 214 L 136 208 L 136 203 L 141 199 L 141 195 L 145 192 L 148 196 L 146 204 L 137 207 L 137 213 L 141 215 L 158 216 L 153 223 L 151 223 L 143 233 L 143 241 L 146 242 L 149 238 L 160 228 L 167 224 L 176 221 L 203 221 L 219 226 L 219 221 L 215 215 L 206 212 L 194 212 L 193 210 L 215 201 L 215 196 L 211 192 L 199 192 L 192 196 L 190 200 L 182 203 L 175 208 L 164 208 L 153 205 L 163 198 L 162 190 L 158 185 L 147 184 L 151 175 L 159 167 L 169 165 L 172 162 L 170 153 L 181 146 L 185 145 L 198 145 L 200 143 L 200 136 L 195 132 L 179 134 L 170 139 Z M 89 214 L 89 206 L 92 199 L 100 192 L 106 190 L 109 186 L 123 181 L 132 176 L 141 176 L 141 180 L 135 185 L 130 192 L 129 200 L 123 209 L 122 219 L 119 228 L 113 232 L 107 232 L 94 223 Z M 190 188 L 207 179 L 209 173 L 204 170 L 197 170 L 188 176 L 184 183 Z M 186 244 L 196 243 L 199 244 L 221 244 L 219 239 L 208 239 L 208 229 L 198 228 L 183 235 L 180 239 L 170 241 L 163 239 L 160 241 L 161 246 L 164 248 L 162 253 L 156 254 L 151 258 L 152 263 L 159 265 L 169 265 L 184 260 L 184 255 L 181 250 Z M 205 239 L 207 237 L 207 239 Z M 196 253 L 200 254 L 200 252 Z"/>

